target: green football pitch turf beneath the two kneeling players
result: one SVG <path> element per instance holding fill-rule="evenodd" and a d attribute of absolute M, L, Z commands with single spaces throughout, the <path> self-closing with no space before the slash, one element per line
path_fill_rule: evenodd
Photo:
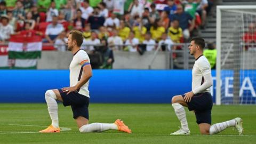
<path fill-rule="evenodd" d="M 193 112 L 186 109 L 190 135 L 172 136 L 180 125 L 168 104 L 91 103 L 90 123 L 122 119 L 132 133 L 80 133 L 70 107 L 59 104 L 61 133 L 38 133 L 50 124 L 46 103 L 0 103 L 0 143 L 256 143 L 256 105 L 213 106 L 212 123 L 243 118 L 244 135 L 228 128 L 200 135 Z M 71 129 L 71 130 L 70 130 Z"/>

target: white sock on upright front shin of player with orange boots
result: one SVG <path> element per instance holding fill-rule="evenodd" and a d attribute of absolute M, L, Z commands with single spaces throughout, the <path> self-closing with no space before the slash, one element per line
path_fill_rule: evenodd
<path fill-rule="evenodd" d="M 47 90 L 45 92 L 45 101 L 48 106 L 48 112 L 52 119 L 52 126 L 55 128 L 59 127 L 59 118 L 58 118 L 58 105 L 56 101 L 56 95 L 52 90 Z"/>

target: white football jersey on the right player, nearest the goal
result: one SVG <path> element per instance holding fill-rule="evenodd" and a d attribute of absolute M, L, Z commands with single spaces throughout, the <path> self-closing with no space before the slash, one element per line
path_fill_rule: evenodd
<path fill-rule="evenodd" d="M 211 74 L 211 66 L 204 55 L 201 55 L 196 59 L 192 69 L 192 90 L 197 89 L 197 87 L 201 86 L 205 82 L 204 75 L 206 74 Z M 203 92 L 210 92 L 210 87 L 201 91 L 201 93 Z"/>

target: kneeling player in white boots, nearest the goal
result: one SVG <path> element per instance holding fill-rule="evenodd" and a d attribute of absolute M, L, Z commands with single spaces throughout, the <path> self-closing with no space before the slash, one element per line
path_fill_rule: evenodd
<path fill-rule="evenodd" d="M 202 38 L 193 38 L 190 41 L 190 54 L 194 55 L 196 59 L 192 69 L 192 91 L 172 98 L 172 106 L 180 120 L 181 127 L 171 135 L 190 134 L 183 106 L 195 111 L 196 122 L 201 134 L 215 134 L 233 126 L 236 127 L 239 135 L 242 135 L 243 120 L 240 117 L 211 125 L 212 95 L 209 88 L 212 86 L 212 75 L 210 63 L 203 55 L 204 46 L 205 42 Z"/>

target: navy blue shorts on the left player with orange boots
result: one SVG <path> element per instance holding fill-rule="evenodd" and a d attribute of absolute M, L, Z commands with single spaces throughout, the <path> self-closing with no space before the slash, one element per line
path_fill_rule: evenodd
<path fill-rule="evenodd" d="M 79 94 L 78 92 L 70 92 L 67 95 L 67 92 L 63 92 L 61 89 L 58 89 L 63 99 L 63 105 L 71 106 L 73 111 L 73 118 L 76 119 L 78 116 L 85 117 L 89 119 L 89 101 L 90 98 Z"/>

